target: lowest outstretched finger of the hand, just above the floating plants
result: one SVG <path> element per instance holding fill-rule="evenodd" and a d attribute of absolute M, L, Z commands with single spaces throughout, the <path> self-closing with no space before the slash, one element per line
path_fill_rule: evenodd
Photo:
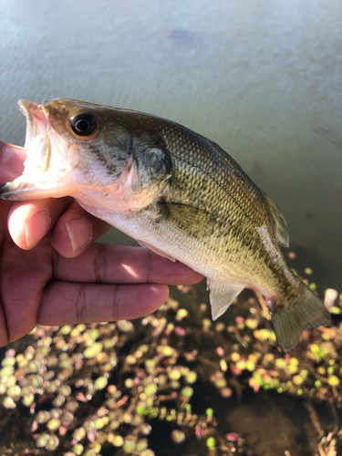
<path fill-rule="evenodd" d="M 154 312 L 168 295 L 166 285 L 52 282 L 43 293 L 37 322 L 61 326 L 138 318 Z"/>

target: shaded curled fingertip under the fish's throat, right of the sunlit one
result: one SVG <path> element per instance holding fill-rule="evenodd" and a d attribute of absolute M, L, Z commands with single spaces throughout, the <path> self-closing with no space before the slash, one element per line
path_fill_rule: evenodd
<path fill-rule="evenodd" d="M 59 254 L 72 258 L 82 254 L 109 228 L 108 223 L 82 209 L 78 202 L 72 202 L 51 233 L 51 244 Z"/>

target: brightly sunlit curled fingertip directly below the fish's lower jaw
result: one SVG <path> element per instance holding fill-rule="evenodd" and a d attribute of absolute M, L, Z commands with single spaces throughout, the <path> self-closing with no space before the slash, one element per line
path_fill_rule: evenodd
<path fill-rule="evenodd" d="M 8 231 L 24 250 L 32 249 L 50 231 L 72 198 L 15 202 L 8 214 Z"/>

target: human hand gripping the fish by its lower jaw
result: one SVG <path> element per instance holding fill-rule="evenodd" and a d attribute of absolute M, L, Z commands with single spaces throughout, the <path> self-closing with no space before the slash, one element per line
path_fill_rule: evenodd
<path fill-rule="evenodd" d="M 26 150 L 0 141 L 0 184 L 24 168 Z M 202 275 L 149 249 L 94 244 L 109 225 L 72 198 L 0 202 L 0 347 L 37 323 L 60 326 L 145 316 L 167 285 Z"/>

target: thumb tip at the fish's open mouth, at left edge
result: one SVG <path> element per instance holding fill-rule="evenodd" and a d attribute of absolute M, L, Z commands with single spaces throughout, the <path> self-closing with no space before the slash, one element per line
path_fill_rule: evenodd
<path fill-rule="evenodd" d="M 24 171 L 27 150 L 0 141 L 0 183 L 13 181 Z"/>

